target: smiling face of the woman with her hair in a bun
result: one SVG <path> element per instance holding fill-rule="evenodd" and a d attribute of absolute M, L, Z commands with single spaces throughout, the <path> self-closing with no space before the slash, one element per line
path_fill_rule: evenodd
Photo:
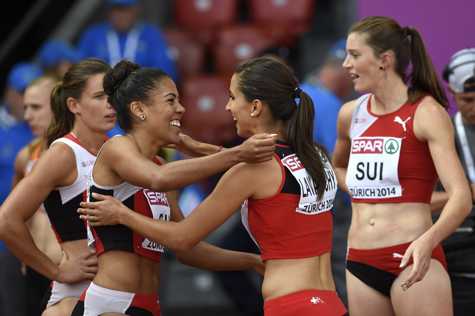
<path fill-rule="evenodd" d="M 180 104 L 177 87 L 170 78 L 161 80 L 158 92 L 152 97 L 151 104 L 144 106 L 143 114 L 152 133 L 162 139 L 166 144 L 180 142 L 180 120 L 185 113 L 185 108 Z"/>

